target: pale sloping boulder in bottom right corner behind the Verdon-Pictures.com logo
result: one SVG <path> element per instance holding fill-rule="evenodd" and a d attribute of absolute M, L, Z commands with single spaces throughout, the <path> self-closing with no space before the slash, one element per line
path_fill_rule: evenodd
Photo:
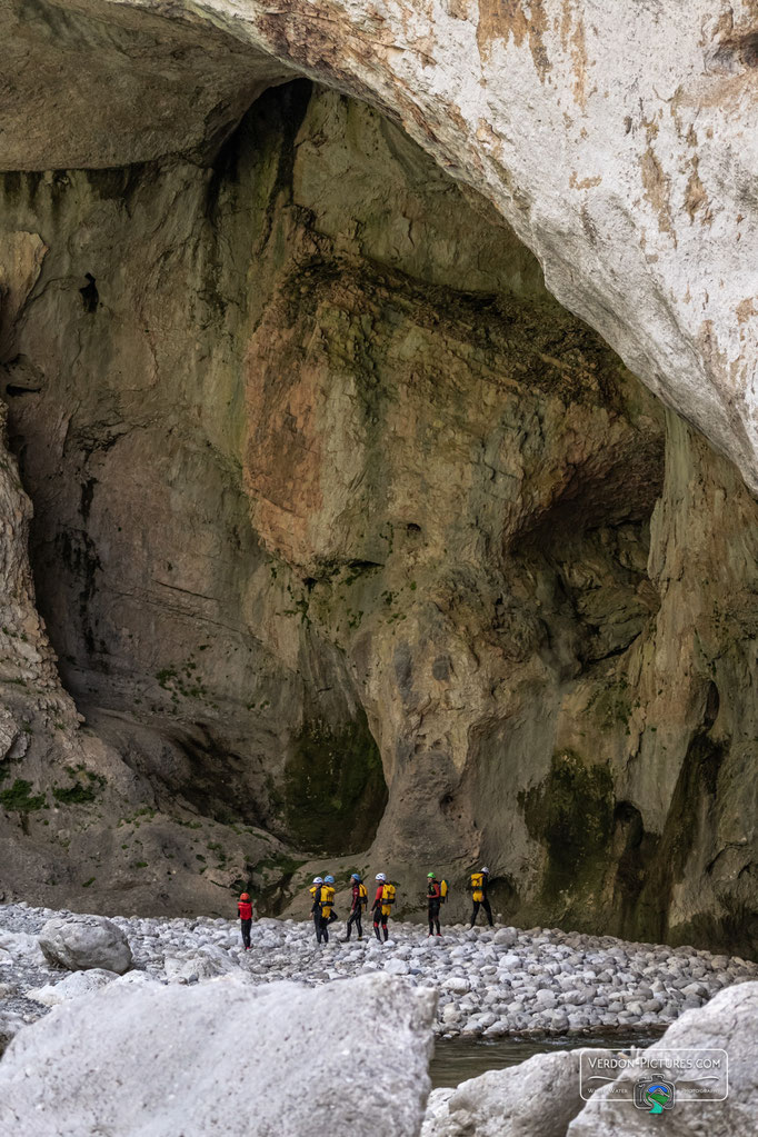
<path fill-rule="evenodd" d="M 643 1071 L 624 1070 L 611 1086 L 598 1090 L 568 1128 L 568 1137 L 748 1137 L 758 1124 L 758 982 L 725 987 L 703 1007 L 685 1012 L 648 1054 L 667 1048 L 725 1049 L 728 1055 L 728 1096 L 723 1102 L 675 1101 L 656 1115 L 624 1101 L 614 1101 L 619 1087 L 632 1087 Z M 676 1094 L 692 1092 L 698 1071 L 666 1074 Z M 626 1095 L 628 1096 L 628 1094 Z"/>

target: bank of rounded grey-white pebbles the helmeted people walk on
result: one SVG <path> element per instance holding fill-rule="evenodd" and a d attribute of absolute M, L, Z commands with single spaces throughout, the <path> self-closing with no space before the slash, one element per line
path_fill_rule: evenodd
<path fill-rule="evenodd" d="M 75 919 L 0 905 L 0 1012 L 25 1022 L 49 1011 L 49 987 L 68 976 L 51 968 L 36 945 L 53 916 Z M 392 922 L 388 944 L 366 933 L 342 944 L 344 924 L 334 923 L 328 945 L 318 946 L 310 922 L 263 919 L 244 952 L 238 921 L 111 919 L 132 947 L 134 981 L 194 984 L 241 971 L 251 984 L 316 986 L 385 971 L 439 990 L 435 1030 L 445 1038 L 656 1034 L 723 987 L 758 979 L 758 964 L 738 957 L 558 930 L 455 926 L 430 939 L 420 924 Z M 94 973 L 84 974 L 94 984 Z M 98 985 L 109 976 L 99 972 Z M 48 1005 L 34 997 L 41 987 Z"/>

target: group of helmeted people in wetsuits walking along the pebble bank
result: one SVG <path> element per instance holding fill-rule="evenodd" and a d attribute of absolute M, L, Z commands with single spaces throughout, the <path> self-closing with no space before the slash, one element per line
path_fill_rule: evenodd
<path fill-rule="evenodd" d="M 392 905 L 395 902 L 397 886 L 393 885 L 392 881 L 388 880 L 383 872 L 377 872 L 375 879 L 376 895 L 374 896 L 374 903 L 370 908 L 374 919 L 374 935 L 380 943 L 385 943 L 390 938 L 388 921 L 392 913 Z M 482 869 L 480 872 L 473 872 L 470 874 L 469 888 L 474 903 L 470 922 L 472 928 L 476 923 L 476 916 L 478 915 L 480 908 L 484 910 L 490 927 L 492 927 L 492 908 L 490 907 L 490 902 L 486 895 L 489 880 L 490 870 L 486 868 Z M 352 894 L 350 915 L 348 916 L 344 938 L 341 940 L 343 944 L 347 944 L 350 940 L 353 927 L 358 939 L 364 938 L 363 918 L 368 907 L 368 889 L 363 882 L 360 873 L 352 873 L 350 877 L 350 887 Z M 328 873 L 326 877 L 314 877 L 314 882 L 308 891 L 313 899 L 310 912 L 314 919 L 314 928 L 316 930 L 316 943 L 328 944 L 330 924 L 334 923 L 338 919 L 336 913 L 334 912 L 334 877 Z M 438 880 L 435 873 L 428 872 L 426 874 L 426 908 L 430 936 L 442 936 L 442 931 L 440 929 L 440 908 L 447 898 L 448 881 L 444 879 Z M 240 896 L 238 902 L 238 912 L 242 926 L 242 943 L 244 944 L 244 949 L 247 952 L 250 949 L 250 928 L 252 924 L 252 903 L 248 893 L 242 893 Z"/>

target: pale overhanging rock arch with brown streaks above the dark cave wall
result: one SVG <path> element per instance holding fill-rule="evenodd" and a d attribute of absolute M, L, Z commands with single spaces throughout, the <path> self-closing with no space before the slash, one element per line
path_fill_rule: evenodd
<path fill-rule="evenodd" d="M 9 0 L 0 26 L 5 169 L 207 160 L 293 74 L 369 102 L 758 488 L 755 0 Z"/>

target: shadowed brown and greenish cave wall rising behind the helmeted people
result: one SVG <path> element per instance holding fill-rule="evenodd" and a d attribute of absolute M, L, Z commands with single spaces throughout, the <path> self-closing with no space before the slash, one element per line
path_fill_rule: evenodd
<path fill-rule="evenodd" d="M 10 890 L 483 857 L 514 922 L 749 952 L 758 507 L 502 218 L 302 81 L 0 194 Z"/>

